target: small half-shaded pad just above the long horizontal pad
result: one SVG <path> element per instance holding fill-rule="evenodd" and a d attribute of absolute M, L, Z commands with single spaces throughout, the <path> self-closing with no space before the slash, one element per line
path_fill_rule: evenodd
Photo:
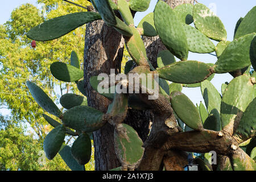
<path fill-rule="evenodd" d="M 163 68 L 175 62 L 176 62 L 175 57 L 170 51 L 164 50 L 158 53 L 158 57 L 157 57 L 158 68 Z"/>

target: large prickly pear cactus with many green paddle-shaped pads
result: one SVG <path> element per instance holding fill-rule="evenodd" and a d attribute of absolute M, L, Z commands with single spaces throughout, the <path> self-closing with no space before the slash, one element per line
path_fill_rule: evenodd
<path fill-rule="evenodd" d="M 92 0 L 90 2 L 98 13 L 81 12 L 48 20 L 32 28 L 27 34 L 28 38 L 48 41 L 68 34 L 82 24 L 99 19 L 104 20 L 108 26 L 115 28 L 123 35 L 132 61 L 137 64 L 137 67 L 132 69 L 132 62 L 127 62 L 126 74 L 131 72 L 159 74 L 160 95 L 165 95 L 164 100 L 171 104 L 177 123 L 184 131 L 179 133 L 180 137 L 191 133 L 191 138 L 193 138 L 195 134 L 196 138 L 193 142 L 196 144 L 201 144 L 205 140 L 210 142 L 217 138 L 225 138 L 223 141 L 220 140 L 227 143 L 224 146 L 230 144 L 229 148 L 231 147 L 234 152 L 230 153 L 227 148 L 221 149 L 216 144 L 217 153 L 224 158 L 228 156 L 225 158 L 226 166 L 223 164 L 225 168 L 220 167 L 220 169 L 255 170 L 256 81 L 255 72 L 251 76 L 249 71 L 251 64 L 255 69 L 256 62 L 256 7 L 250 10 L 245 18 L 238 21 L 234 40 L 228 42 L 221 20 L 207 6 L 200 3 L 179 5 L 173 10 L 165 2 L 159 1 L 154 13 L 146 15 L 138 27 L 135 27 L 131 10 L 147 10 L 150 0 L 131 0 L 129 2 L 118 0 L 117 4 L 110 0 Z M 117 13 L 121 15 L 122 19 L 116 16 Z M 189 25 L 192 22 L 195 27 Z M 156 69 L 152 67 L 147 58 L 146 49 L 141 39 L 142 35 L 159 35 L 167 48 L 166 51 L 159 52 L 158 68 Z M 210 39 L 220 43 L 214 46 Z M 215 51 L 218 60 L 216 64 L 187 60 L 189 51 L 196 53 Z M 176 61 L 174 56 L 180 61 Z M 229 84 L 222 85 L 222 94 L 218 93 L 210 83 L 215 73 L 234 72 L 247 67 L 248 69 L 243 75 L 234 78 Z M 76 82 L 80 92 L 86 96 L 82 80 L 84 72 L 80 69 L 79 59 L 75 52 L 71 53 L 71 64 L 56 62 L 51 65 L 50 69 L 52 75 L 58 80 Z M 168 81 L 171 81 L 172 84 L 169 84 Z M 97 91 L 99 84 L 97 77 L 91 77 L 90 84 Z M 44 118 L 55 127 L 44 140 L 44 151 L 48 159 L 54 158 L 59 152 L 71 169 L 84 169 L 82 165 L 89 162 L 91 155 L 90 133 L 109 122 L 115 128 L 115 152 L 122 164 L 122 167 L 118 169 L 135 169 L 139 166 L 144 153 L 143 142 L 137 132 L 131 126 L 124 124 L 123 120 L 128 107 L 140 110 L 154 109 L 150 105 L 150 101 L 145 101 L 140 94 L 101 93 L 112 101 L 108 112 L 102 113 L 89 107 L 85 97 L 66 94 L 60 98 L 60 104 L 67 111 L 61 113 L 42 89 L 30 81 L 27 82 L 27 86 L 35 101 L 49 114 L 55 115 L 61 120 L 60 123 L 48 115 L 44 115 Z M 202 103 L 198 107 L 193 105 L 192 101 L 181 93 L 183 86 L 200 86 L 207 108 Z M 79 136 L 72 147 L 63 146 L 66 134 Z M 176 139 L 179 135 L 171 135 L 171 138 Z M 186 139 L 183 137 L 182 140 Z M 249 139 L 250 142 L 246 144 L 249 148 L 248 150 L 246 148 L 246 152 L 251 155 L 251 158 L 242 153 L 244 159 L 242 160 L 236 151 L 240 151 L 239 144 Z M 184 149 L 183 142 L 180 143 L 180 146 L 174 144 L 173 147 Z M 214 144 L 213 149 L 215 149 Z M 189 150 L 193 152 L 193 148 Z M 204 150 L 196 148 L 195 151 L 203 152 Z M 212 169 L 205 161 L 197 160 L 201 168 Z"/>

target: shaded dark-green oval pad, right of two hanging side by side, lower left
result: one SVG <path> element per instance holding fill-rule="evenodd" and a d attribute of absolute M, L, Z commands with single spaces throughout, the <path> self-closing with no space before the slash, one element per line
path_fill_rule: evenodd
<path fill-rule="evenodd" d="M 72 144 L 71 154 L 80 165 L 85 165 L 90 161 L 92 144 L 90 137 L 86 133 L 80 134 Z"/>

